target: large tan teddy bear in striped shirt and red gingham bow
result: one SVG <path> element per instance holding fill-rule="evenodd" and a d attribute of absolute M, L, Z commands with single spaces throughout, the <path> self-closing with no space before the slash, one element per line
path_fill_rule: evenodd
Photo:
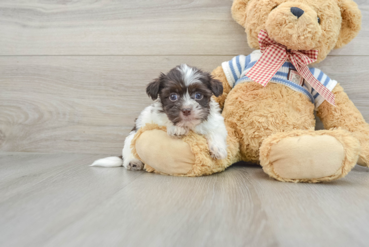
<path fill-rule="evenodd" d="M 361 28 L 352 0 L 234 0 L 232 17 L 247 34 L 249 55 L 212 75 L 227 136 L 227 158 L 211 158 L 203 136 L 172 138 L 147 124 L 131 147 L 148 172 L 201 176 L 238 161 L 256 163 L 285 182 L 323 182 L 369 165 L 369 124 L 342 86 L 314 63 L 351 41 Z M 344 82 L 343 82 L 344 84 Z M 315 130 L 314 111 L 325 130 Z M 155 145 L 152 145 L 155 143 Z"/>

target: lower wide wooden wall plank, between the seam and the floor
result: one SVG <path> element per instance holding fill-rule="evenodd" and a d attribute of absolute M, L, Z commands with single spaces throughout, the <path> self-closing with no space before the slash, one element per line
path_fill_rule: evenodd
<path fill-rule="evenodd" d="M 114 154 L 151 100 L 148 82 L 175 65 L 212 71 L 232 56 L 0 56 L 0 149 Z M 350 69 L 347 68 L 350 64 Z M 318 67 L 369 121 L 368 56 Z"/>

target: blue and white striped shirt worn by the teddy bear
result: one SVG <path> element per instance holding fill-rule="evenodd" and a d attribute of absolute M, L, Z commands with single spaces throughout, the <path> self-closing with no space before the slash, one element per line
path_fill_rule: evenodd
<path fill-rule="evenodd" d="M 252 82 L 252 80 L 246 76 L 246 73 L 256 64 L 260 57 L 260 50 L 255 50 L 248 56 L 239 55 L 228 62 L 223 62 L 221 66 L 229 85 L 234 87 L 239 83 Z M 317 109 L 325 99 L 314 88 L 312 88 L 308 82 L 304 81 L 304 83 L 300 85 L 289 81 L 288 75 L 291 70 L 295 71 L 295 66 L 289 61 L 286 61 L 270 82 L 281 83 L 297 92 L 303 93 L 309 98 L 311 103 L 315 105 L 315 109 Z M 313 76 L 330 91 L 332 91 L 334 86 L 337 84 L 336 81 L 329 78 L 321 70 L 316 68 L 309 68 L 309 70 L 311 74 L 313 74 Z"/>

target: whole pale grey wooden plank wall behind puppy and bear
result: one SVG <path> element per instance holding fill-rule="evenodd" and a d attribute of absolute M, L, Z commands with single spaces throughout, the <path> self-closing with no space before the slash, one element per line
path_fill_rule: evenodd
<path fill-rule="evenodd" d="M 369 122 L 369 0 L 362 31 L 317 67 Z M 145 85 L 188 63 L 249 54 L 231 0 L 1 0 L 0 150 L 117 154 Z M 318 128 L 321 128 L 318 123 Z"/>

